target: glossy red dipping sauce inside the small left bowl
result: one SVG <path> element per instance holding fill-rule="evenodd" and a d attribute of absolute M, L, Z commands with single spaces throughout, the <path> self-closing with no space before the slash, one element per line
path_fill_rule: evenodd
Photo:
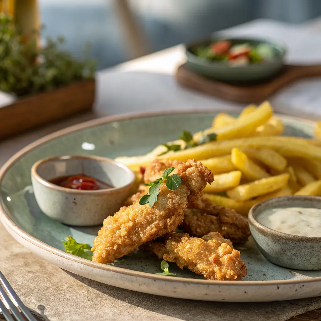
<path fill-rule="evenodd" d="M 72 188 L 72 189 L 81 189 L 86 191 L 94 191 L 97 189 L 108 189 L 113 186 L 108 185 L 99 179 L 86 176 L 84 174 L 72 175 L 72 176 L 60 176 L 54 178 L 50 181 L 55 185 Z"/>

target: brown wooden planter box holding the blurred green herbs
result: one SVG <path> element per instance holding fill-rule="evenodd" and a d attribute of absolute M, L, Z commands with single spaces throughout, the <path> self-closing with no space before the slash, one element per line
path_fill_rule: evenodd
<path fill-rule="evenodd" d="M 91 109 L 94 99 L 94 79 L 22 97 L 0 108 L 0 139 Z"/>

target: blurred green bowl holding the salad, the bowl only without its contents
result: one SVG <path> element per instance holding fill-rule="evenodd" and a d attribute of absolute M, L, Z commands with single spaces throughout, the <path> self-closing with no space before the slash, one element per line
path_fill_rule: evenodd
<path fill-rule="evenodd" d="M 222 61 L 209 61 L 195 55 L 195 49 L 200 46 L 209 46 L 211 43 L 221 39 L 205 39 L 186 46 L 187 67 L 206 77 L 211 77 L 224 82 L 253 82 L 272 78 L 284 67 L 284 56 L 286 48 L 283 44 L 265 39 L 248 38 L 225 38 L 230 40 L 232 45 L 248 43 L 256 46 L 258 44 L 269 44 L 274 51 L 274 58 L 271 61 L 259 64 L 241 66 L 230 66 Z"/>

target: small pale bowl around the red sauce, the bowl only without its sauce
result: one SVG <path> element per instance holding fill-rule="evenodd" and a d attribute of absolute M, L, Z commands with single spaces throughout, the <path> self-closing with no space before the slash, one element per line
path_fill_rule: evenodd
<path fill-rule="evenodd" d="M 49 182 L 81 173 L 114 187 L 77 190 Z M 119 210 L 134 184 L 135 174 L 108 158 L 72 155 L 39 160 L 32 166 L 31 180 L 43 213 L 68 225 L 93 226 Z"/>

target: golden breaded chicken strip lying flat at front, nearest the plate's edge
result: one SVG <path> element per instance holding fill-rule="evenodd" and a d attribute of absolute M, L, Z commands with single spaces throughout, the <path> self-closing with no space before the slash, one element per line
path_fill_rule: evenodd
<path fill-rule="evenodd" d="M 247 274 L 240 252 L 218 232 L 203 238 L 190 237 L 186 233 L 169 233 L 160 241 L 148 242 L 143 248 L 208 280 L 236 280 Z"/>

